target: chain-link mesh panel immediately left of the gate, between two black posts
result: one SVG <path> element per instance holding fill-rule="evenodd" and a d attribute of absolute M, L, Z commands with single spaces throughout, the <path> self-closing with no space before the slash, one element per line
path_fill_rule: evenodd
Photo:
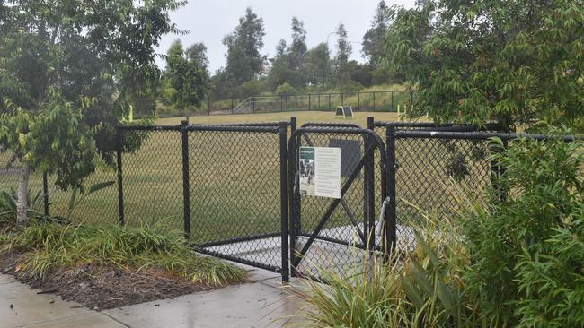
<path fill-rule="evenodd" d="M 189 143 L 191 241 L 279 268 L 279 134 L 191 131 Z"/>

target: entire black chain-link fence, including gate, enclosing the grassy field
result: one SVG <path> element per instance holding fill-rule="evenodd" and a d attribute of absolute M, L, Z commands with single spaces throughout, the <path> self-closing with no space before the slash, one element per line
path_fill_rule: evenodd
<path fill-rule="evenodd" d="M 55 177 L 33 172 L 31 197 L 41 201 L 32 207 L 75 222 L 181 229 L 199 252 L 281 272 L 285 281 L 288 265 L 298 276 L 352 274 L 385 246 L 414 249 L 413 229 L 424 227 L 426 215 L 456 216 L 461 194 L 492 200 L 485 190 L 502 168 L 491 162 L 492 151 L 500 151 L 491 138 L 546 138 L 373 117 L 366 127 L 307 123 L 296 130 L 296 118 L 119 127 L 116 165 L 98 164 L 83 193 L 57 189 Z M 140 147 L 122 151 L 128 139 Z M 307 183 L 299 147 L 341 149 L 341 199 L 299 194 Z M 15 190 L 20 173 L 14 156 L 0 152 L 0 190 Z"/>

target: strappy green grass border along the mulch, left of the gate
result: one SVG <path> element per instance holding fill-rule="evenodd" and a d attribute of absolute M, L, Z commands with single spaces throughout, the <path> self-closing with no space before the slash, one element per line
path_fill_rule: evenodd
<path fill-rule="evenodd" d="M 239 267 L 193 253 L 179 231 L 168 232 L 155 226 L 32 222 L 13 237 L 10 247 L 26 252 L 18 271 L 29 277 L 43 277 L 57 268 L 91 264 L 115 265 L 132 271 L 162 270 L 213 286 L 245 278 Z"/>

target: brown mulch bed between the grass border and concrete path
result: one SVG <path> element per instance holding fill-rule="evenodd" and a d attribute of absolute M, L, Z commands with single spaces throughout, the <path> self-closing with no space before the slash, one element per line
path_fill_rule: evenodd
<path fill-rule="evenodd" d="M 40 289 L 39 293 L 56 293 L 65 300 L 94 310 L 175 298 L 217 288 L 192 283 L 164 272 L 132 272 L 114 266 L 97 268 L 85 265 L 48 272 L 42 280 L 31 279 L 16 270 L 21 256 L 22 253 L 0 250 L 0 272 L 14 275 L 19 281 Z"/>

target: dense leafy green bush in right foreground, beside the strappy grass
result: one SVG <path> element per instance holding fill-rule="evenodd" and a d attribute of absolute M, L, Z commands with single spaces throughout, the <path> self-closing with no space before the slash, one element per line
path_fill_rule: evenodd
<path fill-rule="evenodd" d="M 584 326 L 582 143 L 514 141 L 492 160 L 500 189 L 465 220 L 469 292 L 492 325 Z"/>

